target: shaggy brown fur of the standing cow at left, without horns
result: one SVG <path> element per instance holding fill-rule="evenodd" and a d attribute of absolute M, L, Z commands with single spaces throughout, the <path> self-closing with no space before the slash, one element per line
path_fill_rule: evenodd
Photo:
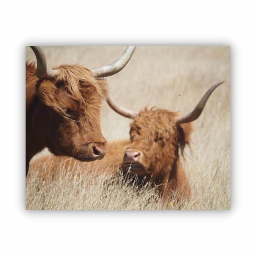
<path fill-rule="evenodd" d="M 31 158 L 44 147 L 55 155 L 93 160 L 93 145 L 106 148 L 100 108 L 104 80 L 78 65 L 57 67 L 52 79 L 38 79 L 26 63 L 26 175 Z"/>

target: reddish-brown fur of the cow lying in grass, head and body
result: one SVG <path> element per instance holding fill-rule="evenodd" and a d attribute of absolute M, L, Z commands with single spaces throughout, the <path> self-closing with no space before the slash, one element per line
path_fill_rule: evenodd
<path fill-rule="evenodd" d="M 167 110 L 140 111 L 130 124 L 130 139 L 108 143 L 108 151 L 104 159 L 97 161 L 95 167 L 90 169 L 97 169 L 98 175 L 102 172 L 115 175 L 117 168 L 121 167 L 123 175 L 129 172 L 133 175 L 132 179 L 138 177 L 143 183 L 150 182 L 157 186 L 164 198 L 168 198 L 176 191 L 179 196 L 189 198 L 190 188 L 179 154 L 183 155 L 184 147 L 189 145 L 192 124 L 177 126 L 176 117 L 177 113 Z M 124 162 L 127 149 L 140 151 L 142 154 L 140 161 Z M 52 156 L 38 159 L 33 166 L 43 165 L 45 168 L 40 176 L 52 179 L 58 174 L 56 169 L 60 163 L 67 164 L 69 171 L 80 167 L 86 170 L 87 167 L 76 160 Z"/>

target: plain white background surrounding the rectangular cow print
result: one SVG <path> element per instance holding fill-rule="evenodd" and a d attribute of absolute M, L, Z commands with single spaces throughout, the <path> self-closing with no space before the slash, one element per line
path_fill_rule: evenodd
<path fill-rule="evenodd" d="M 1 255 L 256 255 L 253 1 L 1 3 Z M 26 45 L 230 45 L 230 211 L 25 211 Z"/>

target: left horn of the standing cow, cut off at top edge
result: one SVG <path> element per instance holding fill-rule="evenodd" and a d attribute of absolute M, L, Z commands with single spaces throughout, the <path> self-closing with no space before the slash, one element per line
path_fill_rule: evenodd
<path fill-rule="evenodd" d="M 42 48 L 39 46 L 31 46 L 30 48 L 35 53 L 35 57 L 37 61 L 37 68 L 35 71 L 35 75 L 38 78 L 49 78 L 51 76 L 54 76 L 57 70 L 47 70 L 47 61 Z"/>

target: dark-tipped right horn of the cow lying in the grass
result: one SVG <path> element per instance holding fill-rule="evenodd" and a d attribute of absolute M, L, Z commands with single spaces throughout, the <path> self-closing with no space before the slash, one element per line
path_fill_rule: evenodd
<path fill-rule="evenodd" d="M 209 99 L 209 96 L 212 94 L 212 92 L 221 84 L 223 84 L 224 81 L 219 82 L 217 84 L 214 84 L 207 92 L 204 94 L 202 99 L 198 102 L 198 105 L 196 105 L 195 109 L 187 114 L 186 116 L 182 116 L 176 120 L 176 124 L 180 125 L 183 123 L 193 122 L 201 115 L 202 111 L 204 110 L 204 106 Z"/>

